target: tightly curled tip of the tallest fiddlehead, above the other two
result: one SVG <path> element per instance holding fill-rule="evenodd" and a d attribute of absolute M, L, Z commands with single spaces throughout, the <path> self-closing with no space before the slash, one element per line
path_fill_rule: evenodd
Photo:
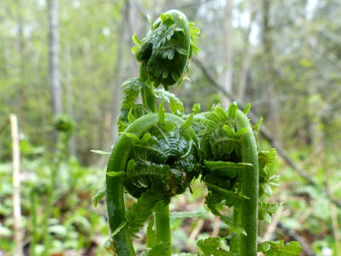
<path fill-rule="evenodd" d="M 170 10 L 162 13 L 143 40 L 136 36 L 133 53 L 141 62 L 144 73 L 155 87 L 181 83 L 188 71 L 188 60 L 197 54 L 197 33 L 194 23 L 188 23 L 185 14 Z"/>

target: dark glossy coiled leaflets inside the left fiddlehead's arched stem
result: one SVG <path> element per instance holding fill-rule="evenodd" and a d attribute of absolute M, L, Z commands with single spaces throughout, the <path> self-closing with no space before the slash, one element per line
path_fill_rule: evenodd
<path fill-rule="evenodd" d="M 129 194 L 139 198 L 144 191 L 153 188 L 167 201 L 183 193 L 190 181 L 197 178 L 199 145 L 189 121 L 178 124 L 165 119 L 161 104 L 157 123 L 143 136 L 123 133 L 133 144 L 124 181 Z"/>

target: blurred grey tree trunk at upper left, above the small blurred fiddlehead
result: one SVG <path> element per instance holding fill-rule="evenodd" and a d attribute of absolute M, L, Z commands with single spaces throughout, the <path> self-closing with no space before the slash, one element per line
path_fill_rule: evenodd
<path fill-rule="evenodd" d="M 63 111 L 59 76 L 59 31 L 57 0 L 49 0 L 48 26 L 49 26 L 49 63 L 48 63 L 49 83 L 52 98 L 52 113 L 53 115 L 56 115 Z"/>

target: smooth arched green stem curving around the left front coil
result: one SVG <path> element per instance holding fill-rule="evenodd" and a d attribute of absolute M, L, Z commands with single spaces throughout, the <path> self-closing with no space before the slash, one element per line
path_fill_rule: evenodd
<path fill-rule="evenodd" d="M 170 113 L 165 114 L 165 120 L 173 122 L 177 125 L 184 123 L 183 119 Z M 152 113 L 136 119 L 125 132 L 141 137 L 150 128 L 157 125 L 158 114 Z M 189 130 L 189 135 L 197 142 L 197 136 L 193 130 Z M 126 172 L 128 157 L 132 149 L 131 138 L 122 135 L 118 138 L 117 143 L 112 149 L 107 172 Z M 121 226 L 126 222 L 126 209 L 123 197 L 123 179 L 121 177 L 110 177 L 106 175 L 106 204 L 109 218 L 109 228 L 112 237 L 112 243 L 118 255 L 135 256 L 133 244 L 127 225 Z M 158 220 L 155 220 L 155 222 Z M 160 231 L 161 232 L 161 231 Z"/>

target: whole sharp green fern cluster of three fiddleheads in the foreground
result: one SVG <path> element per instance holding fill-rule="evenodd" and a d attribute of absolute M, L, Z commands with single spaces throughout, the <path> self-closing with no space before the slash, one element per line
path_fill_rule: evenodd
<path fill-rule="evenodd" d="M 275 149 L 258 150 L 261 119 L 251 127 L 250 106 L 240 111 L 236 102 L 226 110 L 216 105 L 205 113 L 199 113 L 196 104 L 193 113 L 185 115 L 183 103 L 168 89 L 181 84 L 188 73 L 190 59 L 199 50 L 199 30 L 176 10 L 162 13 L 150 25 L 144 39 L 133 36 L 140 75 L 122 84 L 120 137 L 110 154 L 106 188 L 94 197 L 95 205 L 106 199 L 111 234 L 105 247 L 112 255 L 136 255 L 131 237 L 139 238 L 150 219 L 148 249 L 142 255 L 171 255 L 170 199 L 190 190 L 190 182 L 201 174 L 208 189 L 205 207 L 229 226 L 230 250 L 221 248 L 223 238 L 213 237 L 197 242 L 197 255 L 299 255 L 299 243 L 258 243 L 258 220 L 271 222 L 281 207 L 265 201 L 278 177 L 267 171 Z M 142 104 L 136 103 L 139 96 Z M 159 106 L 156 99 L 161 100 Z M 127 210 L 124 192 L 136 198 Z M 223 214 L 223 207 L 232 207 L 233 215 Z"/>

